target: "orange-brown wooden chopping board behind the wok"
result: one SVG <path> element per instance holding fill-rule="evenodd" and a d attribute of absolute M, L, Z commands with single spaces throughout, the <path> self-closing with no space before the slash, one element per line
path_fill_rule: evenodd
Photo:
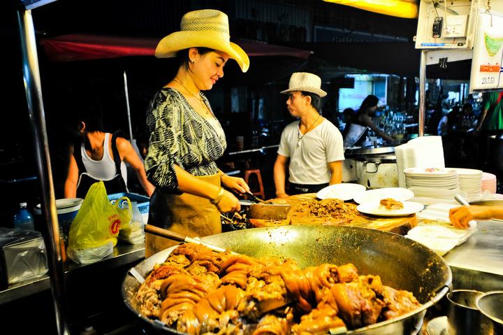
<path fill-rule="evenodd" d="M 291 210 L 285 220 L 263 220 L 251 219 L 249 222 L 251 227 L 274 227 L 286 226 L 289 224 L 324 224 L 324 225 L 346 225 L 353 227 L 364 227 L 371 229 L 379 229 L 382 231 L 391 231 L 395 234 L 406 235 L 407 232 L 416 227 L 416 215 L 407 215 L 402 217 L 378 217 L 364 215 L 362 213 L 356 215 L 356 218 L 349 220 L 340 220 L 333 218 L 320 218 L 315 215 L 300 211 L 300 204 L 305 201 L 316 199 L 316 193 L 291 195 L 281 199 L 271 199 L 275 204 L 290 204 Z M 354 204 L 354 203 L 349 203 Z M 356 205 L 355 205 L 356 206 Z"/>

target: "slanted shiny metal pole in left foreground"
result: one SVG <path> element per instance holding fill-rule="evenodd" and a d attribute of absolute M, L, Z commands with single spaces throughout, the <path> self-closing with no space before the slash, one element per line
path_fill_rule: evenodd
<path fill-rule="evenodd" d="M 49 256 L 52 301 L 56 315 L 57 332 L 70 334 L 66 313 L 68 304 L 64 286 L 64 266 L 61 245 L 59 243 L 59 224 L 57 220 L 54 184 L 52 181 L 49 144 L 45 129 L 40 71 L 36 51 L 35 29 L 31 10 L 17 9 L 19 24 L 24 90 L 26 92 L 31 134 L 34 141 L 35 156 L 38 167 L 38 178 L 42 189 L 42 213 L 47 222 L 49 243 L 46 243 Z"/>

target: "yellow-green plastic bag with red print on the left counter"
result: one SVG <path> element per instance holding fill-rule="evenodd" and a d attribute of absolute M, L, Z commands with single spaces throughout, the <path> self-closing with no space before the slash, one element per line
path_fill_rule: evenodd
<path fill-rule="evenodd" d="M 127 201 L 127 208 L 119 208 Z M 67 255 L 78 263 L 92 263 L 110 255 L 122 226 L 131 221 L 131 201 L 122 197 L 117 204 L 108 200 L 105 184 L 94 183 L 70 226 Z"/>

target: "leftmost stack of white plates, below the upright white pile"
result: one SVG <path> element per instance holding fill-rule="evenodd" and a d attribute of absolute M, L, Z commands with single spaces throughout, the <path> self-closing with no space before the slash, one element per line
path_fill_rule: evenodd
<path fill-rule="evenodd" d="M 459 192 L 458 172 L 447 168 L 409 168 L 405 184 L 415 197 L 453 199 Z"/>

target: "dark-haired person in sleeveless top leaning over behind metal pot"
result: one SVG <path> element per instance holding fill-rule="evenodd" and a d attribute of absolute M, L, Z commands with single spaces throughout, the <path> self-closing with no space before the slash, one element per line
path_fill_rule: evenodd
<path fill-rule="evenodd" d="M 344 147 L 361 145 L 365 142 L 369 128 L 372 129 L 377 136 L 381 136 L 384 140 L 392 144 L 396 143 L 393 137 L 386 134 L 384 131 L 379 129 L 374 122 L 372 122 L 370 114 L 375 113 L 377 104 L 379 104 L 379 98 L 372 94 L 368 95 L 362 101 L 358 112 L 353 115 L 349 124 L 349 129 L 344 137 Z M 348 125 L 346 125 L 346 127 L 348 127 Z"/>

